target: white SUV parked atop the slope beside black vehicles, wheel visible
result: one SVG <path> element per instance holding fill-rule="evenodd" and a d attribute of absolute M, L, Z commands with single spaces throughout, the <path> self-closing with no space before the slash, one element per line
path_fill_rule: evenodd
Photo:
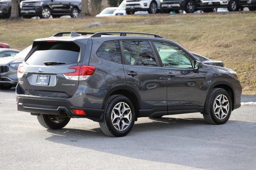
<path fill-rule="evenodd" d="M 134 14 L 136 11 L 155 14 L 160 10 L 160 0 L 126 0 L 125 10 L 127 14 Z"/>

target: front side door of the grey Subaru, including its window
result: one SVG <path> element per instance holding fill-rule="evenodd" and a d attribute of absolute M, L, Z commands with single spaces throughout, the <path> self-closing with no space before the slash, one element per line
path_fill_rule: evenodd
<path fill-rule="evenodd" d="M 168 113 L 200 111 L 206 99 L 205 72 L 194 72 L 194 59 L 181 47 L 160 41 L 153 44 L 166 74 Z"/>

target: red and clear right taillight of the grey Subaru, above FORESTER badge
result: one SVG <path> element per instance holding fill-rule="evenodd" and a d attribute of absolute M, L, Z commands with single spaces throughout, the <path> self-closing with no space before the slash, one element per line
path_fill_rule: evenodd
<path fill-rule="evenodd" d="M 87 80 L 96 70 L 94 66 L 71 66 L 69 69 L 75 69 L 74 72 L 63 74 L 69 80 Z"/>

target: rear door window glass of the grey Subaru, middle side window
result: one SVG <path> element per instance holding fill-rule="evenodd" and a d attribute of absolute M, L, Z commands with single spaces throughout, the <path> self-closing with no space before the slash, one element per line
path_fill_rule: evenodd
<path fill-rule="evenodd" d="M 122 41 L 122 44 L 126 64 L 156 66 L 156 59 L 148 41 Z"/>

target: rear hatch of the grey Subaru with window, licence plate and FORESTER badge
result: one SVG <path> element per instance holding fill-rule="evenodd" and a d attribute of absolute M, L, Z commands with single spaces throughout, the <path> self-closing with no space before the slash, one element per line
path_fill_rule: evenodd
<path fill-rule="evenodd" d="M 85 49 L 85 44 L 74 41 L 34 42 L 32 51 L 18 68 L 22 93 L 61 98 L 74 96 L 79 80 L 65 74 L 77 71 Z"/>

